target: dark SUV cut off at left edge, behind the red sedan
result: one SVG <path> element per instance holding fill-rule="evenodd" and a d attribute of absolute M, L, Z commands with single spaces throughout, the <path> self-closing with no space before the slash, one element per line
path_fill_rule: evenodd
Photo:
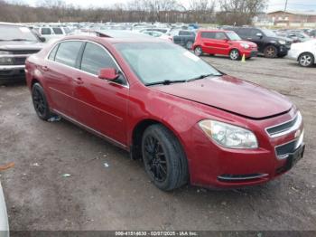
<path fill-rule="evenodd" d="M 25 80 L 25 60 L 42 49 L 40 39 L 19 24 L 0 24 L 0 85 Z"/>

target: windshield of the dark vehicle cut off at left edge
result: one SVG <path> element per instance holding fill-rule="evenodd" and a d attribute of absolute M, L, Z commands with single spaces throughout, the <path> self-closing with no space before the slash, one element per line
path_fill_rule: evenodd
<path fill-rule="evenodd" d="M 38 42 L 35 35 L 27 27 L 0 25 L 0 41 L 32 41 Z"/>

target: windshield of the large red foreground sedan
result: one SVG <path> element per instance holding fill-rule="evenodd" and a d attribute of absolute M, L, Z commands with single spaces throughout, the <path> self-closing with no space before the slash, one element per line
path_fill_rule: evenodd
<path fill-rule="evenodd" d="M 207 62 L 172 43 L 117 43 L 116 49 L 144 84 L 221 75 Z"/>

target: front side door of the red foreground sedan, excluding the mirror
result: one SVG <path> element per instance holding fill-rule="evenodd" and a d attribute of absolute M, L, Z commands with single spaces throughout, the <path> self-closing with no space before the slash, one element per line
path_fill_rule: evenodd
<path fill-rule="evenodd" d="M 98 43 L 86 43 L 80 62 L 79 81 L 75 86 L 79 122 L 102 135 L 126 144 L 128 83 L 121 71 L 116 81 L 101 80 L 104 68 L 121 71 L 112 55 Z"/>

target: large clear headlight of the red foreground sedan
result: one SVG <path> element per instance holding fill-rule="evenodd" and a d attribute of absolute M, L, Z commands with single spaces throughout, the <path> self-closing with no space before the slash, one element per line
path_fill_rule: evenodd
<path fill-rule="evenodd" d="M 222 147 L 234 149 L 253 149 L 258 147 L 256 136 L 246 128 L 240 128 L 214 120 L 202 120 L 200 128 Z"/>

